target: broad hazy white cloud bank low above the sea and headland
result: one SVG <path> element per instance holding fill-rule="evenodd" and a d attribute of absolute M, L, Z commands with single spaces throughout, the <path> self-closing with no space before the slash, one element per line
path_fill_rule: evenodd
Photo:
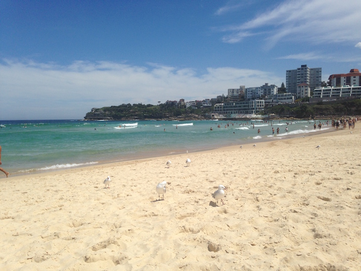
<path fill-rule="evenodd" d="M 271 73 L 229 67 L 197 75 L 154 63 L 132 66 L 114 62 L 0 62 L 0 119 L 81 119 L 92 107 L 122 103 L 213 98 L 240 85 L 279 84 Z"/>

